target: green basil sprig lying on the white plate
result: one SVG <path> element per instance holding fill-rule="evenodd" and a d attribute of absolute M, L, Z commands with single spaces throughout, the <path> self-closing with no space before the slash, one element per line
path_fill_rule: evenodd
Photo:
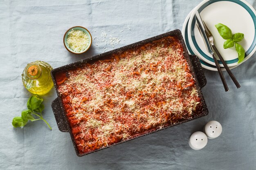
<path fill-rule="evenodd" d="M 231 29 L 229 29 L 229 27 L 221 23 L 216 24 L 215 27 L 218 29 L 220 36 L 224 40 L 226 40 L 223 44 L 223 48 L 228 49 L 233 47 L 234 44 L 236 44 L 236 52 L 238 53 L 238 63 L 242 62 L 245 58 L 245 49 L 243 48 L 243 46 L 238 44 L 238 42 L 243 40 L 244 34 L 243 33 L 232 34 Z"/>

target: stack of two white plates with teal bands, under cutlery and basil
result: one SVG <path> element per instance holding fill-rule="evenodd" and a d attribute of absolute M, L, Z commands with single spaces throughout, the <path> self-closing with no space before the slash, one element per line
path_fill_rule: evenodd
<path fill-rule="evenodd" d="M 256 11 L 248 2 L 245 0 L 204 0 L 189 13 L 182 28 L 182 35 L 189 53 L 200 58 L 203 68 L 217 71 L 213 57 L 207 51 L 196 26 L 194 17 L 196 11 L 200 13 L 202 20 L 213 34 L 214 44 L 230 69 L 248 60 L 256 51 Z M 233 34 L 243 33 L 245 35 L 245 38 L 239 42 L 245 49 L 243 62 L 238 64 L 235 46 L 230 49 L 223 48 L 226 40 L 220 36 L 215 27 L 218 23 L 227 25 Z M 218 62 L 222 70 L 225 70 L 222 62 Z"/>

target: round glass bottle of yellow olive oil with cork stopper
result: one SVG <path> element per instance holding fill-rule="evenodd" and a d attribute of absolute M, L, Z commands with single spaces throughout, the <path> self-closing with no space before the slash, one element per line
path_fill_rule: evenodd
<path fill-rule="evenodd" d="M 22 73 L 22 82 L 30 93 L 44 95 L 53 86 L 51 77 L 52 66 L 43 61 L 27 64 Z"/>

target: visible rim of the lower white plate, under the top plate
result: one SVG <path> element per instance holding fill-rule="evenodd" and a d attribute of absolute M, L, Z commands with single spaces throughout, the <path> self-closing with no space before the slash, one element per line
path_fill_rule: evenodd
<path fill-rule="evenodd" d="M 193 9 L 194 10 L 194 9 Z M 185 21 L 184 21 L 184 24 L 183 24 L 183 27 L 182 27 L 182 35 L 183 35 L 183 38 L 184 38 L 184 41 L 185 41 L 185 44 L 186 44 L 186 47 L 187 47 L 187 50 L 189 52 L 189 54 L 191 55 L 197 55 L 192 49 L 191 49 L 191 46 L 189 44 L 189 40 L 188 40 L 188 33 L 187 33 L 187 30 L 188 30 L 188 22 L 189 22 L 189 18 L 191 16 L 191 13 L 193 12 L 190 11 L 189 15 L 187 15 Z M 199 57 L 200 58 L 200 57 Z M 201 58 L 199 59 L 200 60 L 200 63 L 202 65 L 203 68 L 207 69 L 207 70 L 211 70 L 211 71 L 218 71 L 216 66 L 215 65 L 211 65 L 211 64 L 208 64 L 206 62 L 204 62 Z M 238 65 L 237 65 L 238 66 Z M 236 66 L 232 66 L 232 67 L 229 67 L 229 69 L 232 69 L 232 68 L 235 68 Z M 226 71 L 225 68 L 221 68 L 222 71 Z"/>

